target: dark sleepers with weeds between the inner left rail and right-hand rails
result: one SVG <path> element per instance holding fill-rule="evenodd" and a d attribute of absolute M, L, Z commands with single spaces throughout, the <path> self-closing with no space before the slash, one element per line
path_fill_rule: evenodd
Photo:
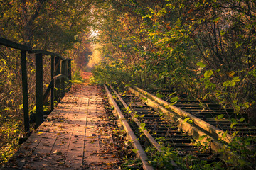
<path fill-rule="evenodd" d="M 117 106 L 123 108 L 123 111 L 126 110 L 127 115 L 132 116 L 132 120 L 137 123 L 137 128 L 144 132 L 146 140 L 151 143 L 152 147 L 156 147 L 159 152 L 162 152 L 159 145 L 161 143 L 161 146 L 173 148 L 176 151 L 177 157 L 193 155 L 194 159 L 204 160 L 207 164 L 220 161 L 218 154 L 210 152 L 210 150 L 208 152 L 201 152 L 200 149 L 193 145 L 196 139 L 193 139 L 193 135 L 188 135 L 187 130 L 189 128 L 184 130 L 175 121 L 164 118 L 163 112 L 158 111 L 154 107 L 146 106 L 143 101 L 144 99 L 134 94 L 123 91 L 120 95 L 113 88 L 109 89 L 112 89 L 112 94 L 117 96 L 115 97 Z M 183 122 L 183 124 L 186 124 L 186 122 Z M 198 131 L 196 134 L 199 135 L 206 135 L 196 128 L 192 128 L 192 131 Z M 139 138 L 139 136 L 137 137 Z M 141 142 L 144 143 L 145 141 L 141 140 Z M 180 169 L 175 162 L 171 164 L 174 169 Z"/>

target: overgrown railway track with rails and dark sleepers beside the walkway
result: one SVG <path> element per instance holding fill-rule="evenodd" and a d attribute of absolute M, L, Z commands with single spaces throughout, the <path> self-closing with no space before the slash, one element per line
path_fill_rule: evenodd
<path fill-rule="evenodd" d="M 218 154 L 218 150 L 224 147 L 218 138 L 229 143 L 233 137 L 232 132 L 236 130 L 239 130 L 242 136 L 252 136 L 256 132 L 256 128 L 249 126 L 245 121 L 233 125 L 230 121 L 232 118 L 247 120 L 246 115 L 236 115 L 233 109 L 222 108 L 218 104 L 179 101 L 172 105 L 137 87 L 129 87 L 129 91 L 119 93 L 112 86 L 109 89 L 105 86 L 105 89 L 112 91 L 109 92 L 109 97 L 112 98 L 112 94 L 115 96 L 114 99 L 112 98 L 116 103 L 115 107 L 126 115 L 119 119 L 128 120 L 127 122 L 132 119 L 132 123 L 135 124 L 135 126 L 132 125 L 133 130 L 137 131 L 137 138 L 140 138 L 139 142 L 143 144 L 144 149 L 151 146 L 158 152 L 164 153 L 161 148 L 168 147 L 172 148 L 176 157 L 181 159 L 192 155 L 194 159 L 211 164 L 227 157 L 236 157 L 229 151 Z M 216 119 L 218 115 L 221 115 L 219 120 Z M 233 125 L 233 128 L 230 128 L 230 125 Z M 140 133 L 143 135 L 139 135 Z M 210 149 L 202 152 L 195 147 L 196 141 L 203 142 Z M 149 158 L 146 157 L 146 159 Z M 174 160 L 170 162 L 172 169 L 183 169 Z"/>

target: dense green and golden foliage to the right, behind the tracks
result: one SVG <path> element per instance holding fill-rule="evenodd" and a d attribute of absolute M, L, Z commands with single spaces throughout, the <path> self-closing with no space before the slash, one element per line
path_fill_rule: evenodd
<path fill-rule="evenodd" d="M 97 6 L 96 6 L 97 7 Z M 98 84 L 169 89 L 255 123 L 255 1 L 108 1 L 95 8 Z"/>

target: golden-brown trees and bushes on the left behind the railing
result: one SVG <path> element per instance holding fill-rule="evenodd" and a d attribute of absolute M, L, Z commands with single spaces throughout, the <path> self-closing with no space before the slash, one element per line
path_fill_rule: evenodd
<path fill-rule="evenodd" d="M 73 83 L 92 54 L 88 41 L 92 1 L 0 1 L 0 37 L 73 59 Z M 50 56 L 43 56 L 43 91 L 50 83 Z M 29 112 L 35 112 L 35 55 L 27 52 Z M 0 166 L 26 137 L 23 130 L 21 51 L 0 46 Z M 46 106 L 46 108 L 48 108 Z M 33 123 L 31 123 L 33 130 Z"/>

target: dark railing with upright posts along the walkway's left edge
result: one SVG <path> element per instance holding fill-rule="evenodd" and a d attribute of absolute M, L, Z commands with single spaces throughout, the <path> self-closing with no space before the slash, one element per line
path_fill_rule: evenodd
<path fill-rule="evenodd" d="M 36 127 L 43 123 L 43 105 L 50 97 L 50 109 L 53 111 L 54 101 L 59 101 L 65 96 L 68 84 L 71 86 L 71 60 L 59 54 L 45 50 L 33 50 L 31 47 L 21 45 L 11 40 L 0 38 L 0 45 L 21 50 L 21 75 L 23 94 L 23 117 L 26 132 L 30 131 L 30 118 L 28 108 L 28 77 L 27 77 L 27 53 L 33 53 L 36 57 Z M 48 55 L 50 60 L 51 81 L 46 91 L 43 92 L 43 56 Z"/>

